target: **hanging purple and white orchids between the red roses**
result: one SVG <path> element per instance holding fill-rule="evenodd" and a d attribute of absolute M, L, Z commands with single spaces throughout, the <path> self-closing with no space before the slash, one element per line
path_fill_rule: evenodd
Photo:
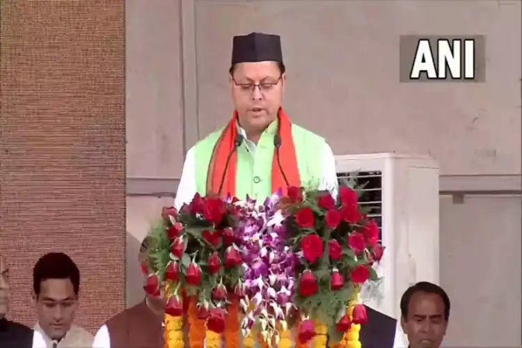
<path fill-rule="evenodd" d="M 246 290 L 246 299 L 241 301 L 245 314 L 242 331 L 248 335 L 258 322 L 267 342 L 276 334 L 277 322 L 287 326 L 287 315 L 294 306 L 291 300 L 296 258 L 286 244 L 286 216 L 277 209 L 281 196 L 282 191 L 278 191 L 260 206 L 248 199 L 237 203 L 242 209 L 236 235 L 244 258 Z"/>

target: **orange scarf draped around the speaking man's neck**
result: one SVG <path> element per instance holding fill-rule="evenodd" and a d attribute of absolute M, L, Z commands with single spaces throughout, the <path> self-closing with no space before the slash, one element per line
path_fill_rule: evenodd
<path fill-rule="evenodd" d="M 230 153 L 234 150 L 235 141 L 237 139 L 237 111 L 234 111 L 232 119 L 228 122 L 221 136 L 219 136 L 214 150 L 212 150 L 212 157 L 210 159 L 209 168 L 207 172 L 207 193 L 219 193 L 221 180 L 223 180 L 223 187 L 221 189 L 221 196 L 234 196 L 236 191 L 236 170 L 237 170 L 237 151 L 232 153 L 228 168 L 226 162 Z M 301 187 L 301 178 L 299 177 L 299 167 L 297 166 L 297 157 L 295 152 L 294 139 L 292 138 L 292 123 L 286 116 L 283 108 L 278 111 L 278 135 L 280 136 L 279 146 L 279 161 L 280 170 L 277 158 L 277 149 L 274 149 L 274 157 L 272 159 L 272 193 L 283 189 L 286 193 L 288 180 L 290 187 Z"/>

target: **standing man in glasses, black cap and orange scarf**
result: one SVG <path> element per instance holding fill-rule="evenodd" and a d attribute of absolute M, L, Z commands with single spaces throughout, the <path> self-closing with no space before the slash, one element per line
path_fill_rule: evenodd
<path fill-rule="evenodd" d="M 175 199 L 178 209 L 196 192 L 264 200 L 294 186 L 337 195 L 330 146 L 292 124 L 283 111 L 286 83 L 278 35 L 234 37 L 230 89 L 235 110 L 225 127 L 187 152 Z"/>

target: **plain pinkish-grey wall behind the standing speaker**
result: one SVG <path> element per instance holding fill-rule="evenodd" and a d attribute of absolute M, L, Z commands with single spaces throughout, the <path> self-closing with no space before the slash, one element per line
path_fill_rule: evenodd
<path fill-rule="evenodd" d="M 232 35 L 278 33 L 294 122 L 338 155 L 427 152 L 441 164 L 447 345 L 520 345 L 520 28 L 520 1 L 127 0 L 129 238 L 171 201 L 151 193 L 175 191 L 184 150 L 230 118 Z M 486 82 L 401 84 L 406 34 L 486 35 Z M 129 303 L 141 296 L 133 262 Z"/>

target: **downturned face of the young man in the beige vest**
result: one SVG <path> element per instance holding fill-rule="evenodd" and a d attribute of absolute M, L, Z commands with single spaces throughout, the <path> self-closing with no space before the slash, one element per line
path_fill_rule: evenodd
<path fill-rule="evenodd" d="M 70 279 L 47 279 L 40 284 L 40 294 L 33 294 L 38 323 L 52 340 L 69 331 L 78 309 L 78 296 Z"/>

